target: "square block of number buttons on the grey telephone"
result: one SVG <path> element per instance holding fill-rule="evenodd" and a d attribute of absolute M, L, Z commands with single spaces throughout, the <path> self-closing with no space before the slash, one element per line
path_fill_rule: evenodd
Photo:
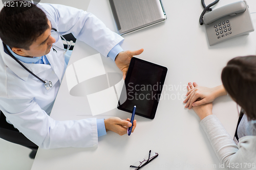
<path fill-rule="evenodd" d="M 214 26 L 214 28 L 218 39 L 232 34 L 229 20 L 219 22 L 218 25 Z"/>

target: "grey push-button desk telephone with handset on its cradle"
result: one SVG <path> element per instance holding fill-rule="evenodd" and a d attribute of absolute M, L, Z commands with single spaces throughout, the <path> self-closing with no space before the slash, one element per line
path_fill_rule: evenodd
<path fill-rule="evenodd" d="M 203 16 L 209 45 L 254 31 L 246 1 L 212 10 Z"/>

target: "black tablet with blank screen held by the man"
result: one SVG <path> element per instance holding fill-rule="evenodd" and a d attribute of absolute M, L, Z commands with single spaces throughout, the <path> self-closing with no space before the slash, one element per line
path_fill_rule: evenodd
<path fill-rule="evenodd" d="M 136 115 L 153 119 L 160 100 L 167 68 L 133 57 L 117 108 Z"/>

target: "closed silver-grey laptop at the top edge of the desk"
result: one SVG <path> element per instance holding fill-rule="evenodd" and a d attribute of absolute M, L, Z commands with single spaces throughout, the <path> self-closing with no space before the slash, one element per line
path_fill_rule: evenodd
<path fill-rule="evenodd" d="M 161 0 L 109 0 L 120 35 L 166 19 Z"/>

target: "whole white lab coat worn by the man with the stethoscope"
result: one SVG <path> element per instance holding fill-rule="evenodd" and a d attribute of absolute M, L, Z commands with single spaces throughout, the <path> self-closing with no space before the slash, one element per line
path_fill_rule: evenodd
<path fill-rule="evenodd" d="M 106 56 L 123 38 L 107 29 L 94 15 L 62 5 L 37 5 L 46 14 L 52 27 L 60 34 L 73 33 L 81 41 Z M 55 45 L 63 47 L 61 38 Z M 23 63 L 42 80 L 33 77 L 4 52 L 0 40 L 0 110 L 27 138 L 40 148 L 95 147 L 98 142 L 96 118 L 57 121 L 48 114 L 56 98 L 66 69 L 63 51 L 51 50 L 46 55 L 51 65 Z"/>

